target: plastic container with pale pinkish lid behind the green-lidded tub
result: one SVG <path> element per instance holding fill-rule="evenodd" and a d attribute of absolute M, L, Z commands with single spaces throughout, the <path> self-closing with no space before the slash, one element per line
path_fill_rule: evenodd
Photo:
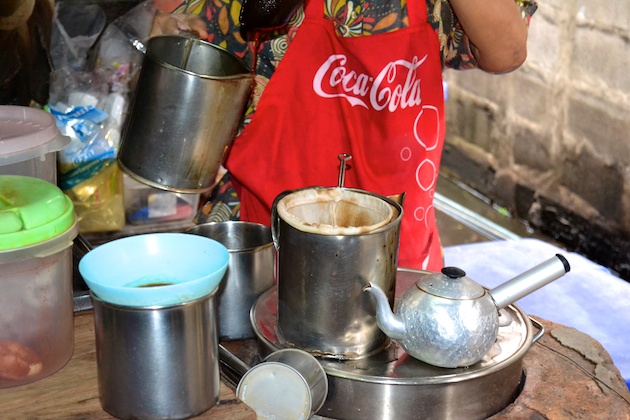
<path fill-rule="evenodd" d="M 70 143 L 41 109 L 0 105 L 0 175 L 23 175 L 57 185 L 57 153 Z"/>

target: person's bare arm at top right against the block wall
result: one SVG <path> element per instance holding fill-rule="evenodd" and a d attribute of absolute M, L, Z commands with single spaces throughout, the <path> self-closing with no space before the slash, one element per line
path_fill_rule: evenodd
<path fill-rule="evenodd" d="M 527 24 L 514 0 L 449 0 L 479 68 L 506 73 L 527 57 Z"/>

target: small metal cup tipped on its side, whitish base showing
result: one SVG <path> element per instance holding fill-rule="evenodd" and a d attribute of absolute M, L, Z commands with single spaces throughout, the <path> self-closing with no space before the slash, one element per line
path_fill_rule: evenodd
<path fill-rule="evenodd" d="M 236 395 L 259 418 L 308 419 L 326 401 L 328 377 L 310 353 L 283 349 L 247 371 Z"/>

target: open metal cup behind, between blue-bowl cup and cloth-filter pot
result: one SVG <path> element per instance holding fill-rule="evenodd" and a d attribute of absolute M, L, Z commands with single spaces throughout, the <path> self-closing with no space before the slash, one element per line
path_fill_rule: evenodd
<path fill-rule="evenodd" d="M 219 286 L 219 337 L 243 340 L 254 337 L 249 311 L 256 299 L 274 284 L 275 249 L 271 230 L 250 222 L 213 222 L 186 231 L 214 239 L 230 254 Z"/>

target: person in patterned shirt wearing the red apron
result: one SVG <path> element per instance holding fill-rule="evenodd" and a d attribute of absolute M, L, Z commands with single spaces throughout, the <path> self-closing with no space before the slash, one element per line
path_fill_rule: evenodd
<path fill-rule="evenodd" d="M 259 45 L 256 63 L 254 43 L 239 32 L 240 0 L 156 1 L 168 13 L 156 14 L 152 36 L 193 31 L 255 68 L 227 173 L 198 223 L 269 225 L 279 193 L 337 185 L 337 156 L 348 153 L 344 186 L 406 193 L 399 266 L 442 268 L 432 204 L 445 134 L 442 72 L 521 66 L 534 0 L 305 0 Z"/>

